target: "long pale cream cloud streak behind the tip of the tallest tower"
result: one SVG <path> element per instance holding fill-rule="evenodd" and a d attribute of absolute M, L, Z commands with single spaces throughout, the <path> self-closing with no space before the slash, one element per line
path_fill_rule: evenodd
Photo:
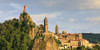
<path fill-rule="evenodd" d="M 57 16 L 61 15 L 61 13 L 42 13 L 42 14 L 31 14 L 30 16 L 35 22 L 43 20 L 45 17 L 47 18 L 56 18 Z"/>

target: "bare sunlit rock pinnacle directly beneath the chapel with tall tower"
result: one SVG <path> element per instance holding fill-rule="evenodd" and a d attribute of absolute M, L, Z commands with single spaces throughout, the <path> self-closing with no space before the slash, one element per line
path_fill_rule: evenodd
<path fill-rule="evenodd" d="M 52 35 L 35 38 L 32 50 L 59 50 Z"/>

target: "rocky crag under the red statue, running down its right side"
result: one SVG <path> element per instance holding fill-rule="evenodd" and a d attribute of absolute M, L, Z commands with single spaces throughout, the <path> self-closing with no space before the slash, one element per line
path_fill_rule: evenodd
<path fill-rule="evenodd" d="M 23 12 L 20 15 L 20 21 L 26 21 L 28 25 L 31 25 L 31 29 L 29 31 L 29 36 L 30 36 L 30 39 L 33 40 L 36 33 L 38 32 L 38 28 L 37 28 L 36 24 L 32 21 L 31 17 L 26 12 Z"/>

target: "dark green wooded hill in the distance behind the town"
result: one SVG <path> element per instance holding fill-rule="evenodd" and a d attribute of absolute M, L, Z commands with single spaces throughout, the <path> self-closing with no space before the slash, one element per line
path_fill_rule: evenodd
<path fill-rule="evenodd" d="M 89 40 L 90 43 L 100 43 L 99 33 L 82 33 L 83 38 Z"/>

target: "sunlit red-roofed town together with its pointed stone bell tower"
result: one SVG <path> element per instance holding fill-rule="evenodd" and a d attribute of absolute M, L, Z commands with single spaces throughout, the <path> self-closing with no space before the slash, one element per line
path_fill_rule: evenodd
<path fill-rule="evenodd" d="M 93 43 L 89 43 L 88 40 L 82 38 L 81 33 L 67 33 L 66 31 L 62 31 L 59 34 L 58 25 L 55 27 L 55 37 L 56 39 L 60 40 L 61 45 L 67 45 L 67 48 L 77 48 L 78 46 L 85 46 L 85 47 L 93 47 Z M 59 47 L 59 49 L 62 49 Z M 64 48 L 63 48 L 64 49 Z"/>

